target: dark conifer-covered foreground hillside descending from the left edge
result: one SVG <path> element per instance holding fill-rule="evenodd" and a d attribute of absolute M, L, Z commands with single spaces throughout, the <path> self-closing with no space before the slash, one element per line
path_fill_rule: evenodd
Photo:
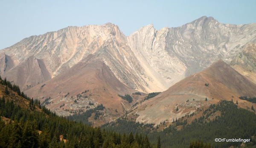
<path fill-rule="evenodd" d="M 154 148 L 142 134 L 118 134 L 58 117 L 0 79 L 0 148 Z M 4 90 L 4 91 L 2 91 Z M 23 95 L 26 97 L 20 97 Z M 17 98 L 19 97 L 19 98 Z M 14 99 L 16 98 L 16 100 Z M 21 100 L 20 98 L 23 98 Z"/>

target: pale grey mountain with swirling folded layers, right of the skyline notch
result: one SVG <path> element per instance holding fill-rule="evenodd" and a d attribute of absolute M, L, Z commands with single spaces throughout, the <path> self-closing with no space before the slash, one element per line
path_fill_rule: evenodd
<path fill-rule="evenodd" d="M 244 45 L 256 41 L 256 24 L 222 24 L 212 17 L 201 17 L 183 26 L 159 31 L 148 25 L 127 38 L 154 82 L 166 90 L 218 59 L 230 62 Z"/>

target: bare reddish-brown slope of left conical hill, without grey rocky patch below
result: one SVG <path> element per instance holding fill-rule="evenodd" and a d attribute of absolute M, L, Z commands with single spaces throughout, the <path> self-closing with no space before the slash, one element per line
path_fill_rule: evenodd
<path fill-rule="evenodd" d="M 131 94 L 134 90 L 121 83 L 110 68 L 95 56 L 90 54 L 82 61 L 51 80 L 30 88 L 26 94 L 34 98 L 53 98 L 55 103 L 47 107 L 55 109 L 59 108 L 58 100 L 63 99 L 59 94 L 65 93 L 70 97 L 89 90 L 88 97 L 110 109 L 113 117 L 121 115 L 124 112 L 123 105 L 128 105 L 128 102 L 118 97 L 118 94 Z"/>

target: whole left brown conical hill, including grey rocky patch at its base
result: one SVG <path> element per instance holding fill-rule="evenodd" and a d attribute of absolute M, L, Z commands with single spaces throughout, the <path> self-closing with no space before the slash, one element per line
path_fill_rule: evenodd
<path fill-rule="evenodd" d="M 88 92 L 82 93 L 87 90 Z M 90 54 L 83 62 L 27 90 L 26 94 L 39 98 L 41 102 L 51 97 L 52 99 L 47 100 L 50 102 L 46 105 L 47 108 L 62 116 L 81 113 L 80 110 L 86 111 L 103 104 L 108 111 L 107 121 L 110 121 L 112 117 L 123 114 L 123 108 L 130 108 L 128 102 L 118 94 L 132 92 L 135 91 L 116 79 L 102 60 Z"/>

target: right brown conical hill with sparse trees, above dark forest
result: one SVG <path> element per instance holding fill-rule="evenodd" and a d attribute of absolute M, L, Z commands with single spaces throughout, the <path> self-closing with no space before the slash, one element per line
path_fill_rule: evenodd
<path fill-rule="evenodd" d="M 250 109 L 253 103 L 239 97 L 255 97 L 255 90 L 256 84 L 218 60 L 204 71 L 186 77 L 156 97 L 138 104 L 128 116 L 143 123 L 172 122 L 220 100 L 238 101 L 239 107 Z"/>

